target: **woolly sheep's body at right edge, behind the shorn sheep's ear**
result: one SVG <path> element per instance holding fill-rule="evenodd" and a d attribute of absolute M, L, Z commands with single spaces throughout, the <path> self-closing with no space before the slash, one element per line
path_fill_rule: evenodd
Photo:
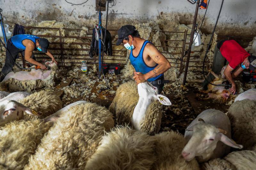
<path fill-rule="evenodd" d="M 244 149 L 256 144 L 256 101 L 245 99 L 234 102 L 228 109 L 232 137 Z"/>

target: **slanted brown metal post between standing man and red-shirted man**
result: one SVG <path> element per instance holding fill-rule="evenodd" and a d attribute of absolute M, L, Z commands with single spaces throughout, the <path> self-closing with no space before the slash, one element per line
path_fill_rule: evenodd
<path fill-rule="evenodd" d="M 184 73 L 184 78 L 183 78 L 182 85 L 186 84 L 186 78 L 187 78 L 187 74 L 188 74 L 188 64 L 189 64 L 191 46 L 192 46 L 192 42 L 194 40 L 194 33 L 195 33 L 195 27 L 196 27 L 196 18 L 197 18 L 197 13 L 198 13 L 198 9 L 199 9 L 199 2 L 200 2 L 200 0 L 197 0 L 193 26 L 192 26 L 192 30 L 191 30 L 191 34 L 190 34 L 190 41 L 189 41 L 189 46 L 188 46 L 188 56 L 187 56 L 187 62 L 186 62 L 185 73 Z"/>

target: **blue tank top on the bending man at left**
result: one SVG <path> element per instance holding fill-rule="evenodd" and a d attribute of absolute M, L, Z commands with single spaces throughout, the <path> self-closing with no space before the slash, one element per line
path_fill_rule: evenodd
<path fill-rule="evenodd" d="M 12 44 L 21 50 L 26 49 L 26 47 L 22 44 L 22 41 L 26 39 L 33 41 L 36 45 L 36 39 L 39 39 L 39 37 L 30 34 L 18 34 L 11 37 Z"/>

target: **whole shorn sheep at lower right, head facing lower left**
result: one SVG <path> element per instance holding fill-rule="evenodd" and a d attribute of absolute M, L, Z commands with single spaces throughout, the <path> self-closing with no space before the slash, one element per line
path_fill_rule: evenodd
<path fill-rule="evenodd" d="M 204 110 L 186 129 L 185 139 L 188 141 L 182 150 L 187 161 L 196 159 L 205 162 L 209 159 L 221 158 L 230 152 L 230 147 L 241 149 L 231 138 L 231 126 L 228 116 L 215 109 Z"/>

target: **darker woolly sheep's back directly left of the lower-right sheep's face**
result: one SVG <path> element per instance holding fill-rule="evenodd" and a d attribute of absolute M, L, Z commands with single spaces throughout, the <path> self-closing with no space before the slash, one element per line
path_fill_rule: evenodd
<path fill-rule="evenodd" d="M 199 170 L 196 159 L 187 162 L 181 152 L 186 145 L 185 138 L 176 132 L 162 132 L 151 136 L 156 140 L 154 170 Z"/>

